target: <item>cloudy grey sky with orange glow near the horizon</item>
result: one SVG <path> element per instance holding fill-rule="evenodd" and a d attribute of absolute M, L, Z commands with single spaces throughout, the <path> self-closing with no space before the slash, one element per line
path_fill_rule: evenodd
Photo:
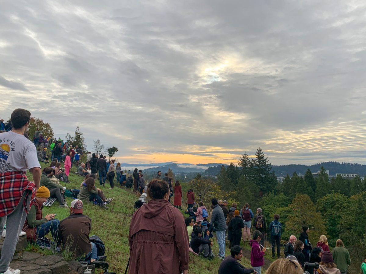
<path fill-rule="evenodd" d="M 366 163 L 365 1 L 2 1 L 0 117 L 127 163 Z"/>

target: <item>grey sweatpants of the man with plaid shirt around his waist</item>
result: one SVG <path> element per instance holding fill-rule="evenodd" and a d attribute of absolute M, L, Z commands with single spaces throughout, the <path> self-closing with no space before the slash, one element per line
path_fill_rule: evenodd
<path fill-rule="evenodd" d="M 6 223 L 6 237 L 1 250 L 0 272 L 8 270 L 11 260 L 18 243 L 20 231 L 22 231 L 27 214 L 23 207 L 23 201 L 26 192 L 24 192 L 16 208 L 8 216 L 0 217 L 0 235 L 3 233 Z M 30 195 L 28 195 L 27 208 L 29 209 Z"/>

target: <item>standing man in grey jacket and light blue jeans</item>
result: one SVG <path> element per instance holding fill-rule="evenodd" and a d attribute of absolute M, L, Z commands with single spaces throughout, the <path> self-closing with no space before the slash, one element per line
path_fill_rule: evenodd
<path fill-rule="evenodd" d="M 211 203 L 213 205 L 212 216 L 210 225 L 214 226 L 216 229 L 217 244 L 219 245 L 219 259 L 225 259 L 225 231 L 226 231 L 226 221 L 224 217 L 223 209 L 219 206 L 217 199 L 212 198 Z"/>

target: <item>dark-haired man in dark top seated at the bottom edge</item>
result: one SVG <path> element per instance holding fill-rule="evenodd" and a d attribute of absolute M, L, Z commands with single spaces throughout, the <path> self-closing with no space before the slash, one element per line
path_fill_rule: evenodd
<path fill-rule="evenodd" d="M 240 246 L 233 246 L 230 250 L 231 256 L 227 256 L 219 267 L 218 274 L 240 274 L 240 273 L 257 273 L 253 268 L 245 268 L 238 261 L 242 260 L 243 251 Z"/>

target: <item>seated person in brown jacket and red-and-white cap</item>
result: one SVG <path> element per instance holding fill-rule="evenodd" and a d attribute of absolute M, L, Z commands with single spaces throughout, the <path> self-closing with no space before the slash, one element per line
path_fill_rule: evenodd
<path fill-rule="evenodd" d="M 83 202 L 75 199 L 71 202 L 70 216 L 60 221 L 59 238 L 62 249 L 73 251 L 74 258 L 83 258 L 89 264 L 108 269 L 108 263 L 103 263 L 107 256 L 97 255 L 97 246 L 90 242 L 91 219 L 83 215 Z"/>

